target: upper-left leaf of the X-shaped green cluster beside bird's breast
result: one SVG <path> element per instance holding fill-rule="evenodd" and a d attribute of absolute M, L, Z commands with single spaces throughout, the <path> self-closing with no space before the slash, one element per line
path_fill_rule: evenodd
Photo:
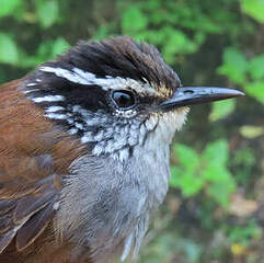
<path fill-rule="evenodd" d="M 175 144 L 173 147 L 179 162 L 188 170 L 194 170 L 199 165 L 198 155 L 194 149 L 185 145 Z"/>

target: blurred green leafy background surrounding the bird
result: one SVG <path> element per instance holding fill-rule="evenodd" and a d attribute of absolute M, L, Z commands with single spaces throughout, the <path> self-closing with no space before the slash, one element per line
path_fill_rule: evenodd
<path fill-rule="evenodd" d="M 264 262 L 264 0 L 0 0 L 0 83 L 119 34 L 156 45 L 184 84 L 246 93 L 192 107 L 139 262 Z"/>

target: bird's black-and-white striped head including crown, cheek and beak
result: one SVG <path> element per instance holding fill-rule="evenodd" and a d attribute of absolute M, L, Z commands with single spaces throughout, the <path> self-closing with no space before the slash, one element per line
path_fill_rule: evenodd
<path fill-rule="evenodd" d="M 157 48 L 126 36 L 79 43 L 31 73 L 24 93 L 92 155 L 122 161 L 150 137 L 169 146 L 188 105 L 242 95 L 183 88 Z"/>

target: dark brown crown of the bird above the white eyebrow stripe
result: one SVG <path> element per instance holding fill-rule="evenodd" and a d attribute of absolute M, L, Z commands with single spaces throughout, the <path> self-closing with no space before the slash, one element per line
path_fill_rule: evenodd
<path fill-rule="evenodd" d="M 66 69 L 76 67 L 100 78 L 112 76 L 148 81 L 163 93 L 167 89 L 169 94 L 180 85 L 177 75 L 154 46 L 128 36 L 102 42 L 81 41 L 58 60 L 46 65 Z"/>

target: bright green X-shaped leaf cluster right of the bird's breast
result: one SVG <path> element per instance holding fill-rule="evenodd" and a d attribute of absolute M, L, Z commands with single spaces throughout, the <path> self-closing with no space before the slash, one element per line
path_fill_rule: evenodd
<path fill-rule="evenodd" d="M 170 185 L 180 187 L 185 197 L 204 191 L 221 206 L 227 206 L 230 194 L 236 191 L 236 183 L 227 169 L 227 141 L 210 142 L 200 155 L 180 144 L 174 145 L 173 149 L 179 163 L 172 167 Z"/>

